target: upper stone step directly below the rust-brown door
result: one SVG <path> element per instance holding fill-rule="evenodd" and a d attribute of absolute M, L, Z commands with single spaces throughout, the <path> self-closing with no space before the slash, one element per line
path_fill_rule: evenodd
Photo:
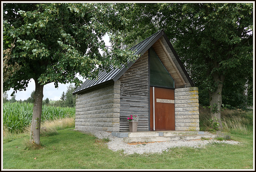
<path fill-rule="evenodd" d="M 138 131 L 138 132 L 112 132 L 115 137 L 158 137 L 178 135 L 203 135 L 204 131 Z"/>

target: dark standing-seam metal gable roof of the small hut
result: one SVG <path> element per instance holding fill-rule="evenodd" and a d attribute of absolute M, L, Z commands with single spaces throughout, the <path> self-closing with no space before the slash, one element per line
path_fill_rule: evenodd
<path fill-rule="evenodd" d="M 164 33 L 164 31 L 162 29 L 162 30 L 154 33 L 150 37 L 144 39 L 143 41 L 141 41 L 140 43 L 138 43 L 134 47 L 130 48 L 129 50 L 136 51 L 134 53 L 134 55 L 143 55 L 162 35 L 164 35 L 165 39 L 168 40 L 168 38 L 166 37 L 166 34 Z M 168 40 L 168 44 L 169 44 L 169 46 L 171 46 L 170 48 L 172 49 L 172 51 L 174 51 L 174 49 L 173 49 L 172 45 L 170 44 L 169 40 Z M 178 61 L 180 62 L 180 65 L 183 67 L 182 69 L 184 69 L 183 71 L 187 74 L 187 72 L 186 72 L 184 66 L 181 64 L 181 61 L 178 58 L 178 56 L 176 57 L 176 59 L 178 59 Z M 127 67 L 122 65 L 122 69 L 114 68 L 112 66 L 110 72 L 100 71 L 99 74 L 98 74 L 98 79 L 93 79 L 93 80 L 89 80 L 88 79 L 88 80 L 86 80 L 72 94 L 74 94 L 74 95 L 75 94 L 81 94 L 82 92 L 85 92 L 86 90 L 91 90 L 93 88 L 96 88 L 96 87 L 99 87 L 99 86 L 103 86 L 103 85 L 107 85 L 107 84 L 110 84 L 112 82 L 115 82 L 135 62 L 136 61 L 131 61 L 130 63 L 128 63 Z M 191 79 L 189 78 L 188 74 L 187 74 L 187 77 L 191 81 Z M 190 83 L 192 83 L 192 81 Z"/>

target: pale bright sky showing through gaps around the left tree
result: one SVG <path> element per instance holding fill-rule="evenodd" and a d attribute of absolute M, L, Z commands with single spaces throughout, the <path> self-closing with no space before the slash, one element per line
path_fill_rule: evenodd
<path fill-rule="evenodd" d="M 108 34 L 106 34 L 103 37 L 103 40 L 104 40 L 106 46 L 110 46 L 110 42 L 109 42 L 110 40 L 109 40 Z M 85 79 L 83 80 L 82 77 L 78 77 L 78 78 L 80 80 L 82 80 L 83 82 L 85 81 Z M 43 100 L 45 100 L 46 98 L 48 98 L 49 100 L 60 100 L 62 92 L 66 93 L 69 85 L 70 85 L 70 83 L 58 84 L 58 88 L 55 88 L 53 82 L 50 84 L 46 84 L 44 86 L 44 90 L 43 90 L 43 94 L 44 94 Z M 31 79 L 28 84 L 28 87 L 26 88 L 26 91 L 17 91 L 17 93 L 15 93 L 15 95 L 16 95 L 15 99 L 16 100 L 27 100 L 30 97 L 32 91 L 34 91 L 34 90 L 35 90 L 35 82 L 33 79 Z M 9 91 L 7 91 L 9 100 L 12 98 L 11 97 L 12 92 L 13 92 L 12 88 Z"/>

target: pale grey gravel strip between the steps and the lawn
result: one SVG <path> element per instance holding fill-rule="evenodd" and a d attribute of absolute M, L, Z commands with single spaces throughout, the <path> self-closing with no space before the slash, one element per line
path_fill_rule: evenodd
<path fill-rule="evenodd" d="M 168 148 L 173 147 L 194 147 L 194 148 L 203 148 L 205 145 L 216 142 L 216 143 L 228 143 L 237 145 L 240 142 L 237 141 L 217 141 L 214 139 L 211 140 L 190 140 L 190 141 L 165 141 L 165 142 L 154 142 L 147 144 L 135 144 L 130 145 L 123 142 L 122 138 L 114 137 L 110 132 L 106 131 L 84 131 L 89 132 L 95 135 L 98 139 L 108 138 L 110 141 L 107 143 L 108 149 L 113 151 L 124 150 L 124 154 L 143 154 L 143 153 L 162 153 L 167 151 Z"/>

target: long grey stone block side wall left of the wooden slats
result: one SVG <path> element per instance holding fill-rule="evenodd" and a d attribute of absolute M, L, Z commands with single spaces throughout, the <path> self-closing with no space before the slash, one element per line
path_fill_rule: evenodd
<path fill-rule="evenodd" d="M 120 81 L 76 97 L 75 128 L 119 131 Z"/>

